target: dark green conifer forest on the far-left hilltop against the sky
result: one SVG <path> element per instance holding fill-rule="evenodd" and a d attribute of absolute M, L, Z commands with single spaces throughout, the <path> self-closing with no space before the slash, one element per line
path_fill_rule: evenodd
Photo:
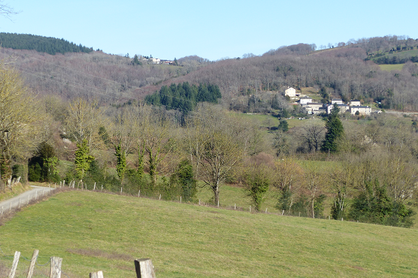
<path fill-rule="evenodd" d="M 0 33 L 1 47 L 11 49 L 28 49 L 47 54 L 65 54 L 67 52 L 90 53 L 93 48 L 84 47 L 82 44 L 75 44 L 64 39 L 42 37 L 41 35 Z"/>

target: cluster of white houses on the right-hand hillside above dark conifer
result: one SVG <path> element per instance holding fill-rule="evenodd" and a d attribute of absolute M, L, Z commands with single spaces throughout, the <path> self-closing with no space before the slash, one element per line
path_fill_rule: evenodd
<path fill-rule="evenodd" d="M 313 102 L 311 97 L 300 97 L 294 88 L 288 88 L 284 91 L 286 97 L 299 98 L 299 104 L 307 114 L 330 114 L 334 105 L 338 106 L 340 113 L 350 112 L 351 115 L 370 115 L 371 107 L 362 106 L 359 100 L 351 100 L 348 104 L 343 103 L 343 99 L 332 99 L 330 104 Z M 358 112 L 358 113 L 357 113 Z"/>

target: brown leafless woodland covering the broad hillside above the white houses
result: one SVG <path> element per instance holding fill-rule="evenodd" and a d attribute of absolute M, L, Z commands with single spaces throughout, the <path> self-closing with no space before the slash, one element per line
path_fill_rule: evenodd
<path fill-rule="evenodd" d="M 66 53 L 51 56 L 30 50 L 1 49 L 15 56 L 17 70 L 40 95 L 95 97 L 107 103 L 143 99 L 163 85 L 218 85 L 222 104 L 247 105 L 249 95 L 282 92 L 288 86 L 327 90 L 331 97 L 379 101 L 382 108 L 418 110 L 418 66 L 385 72 L 369 58 L 385 51 L 417 47 L 417 40 L 387 36 L 340 42 L 339 47 L 315 51 L 314 44 L 272 49 L 263 56 L 245 55 L 210 62 L 198 56 L 178 59 L 176 65 L 138 65 L 131 58 L 104 54 Z M 4 45 L 3 45 L 4 47 Z M 323 47 L 321 47 L 323 48 Z"/>

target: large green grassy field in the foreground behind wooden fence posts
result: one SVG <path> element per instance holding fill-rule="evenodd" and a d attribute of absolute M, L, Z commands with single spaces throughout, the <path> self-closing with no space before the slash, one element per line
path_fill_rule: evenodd
<path fill-rule="evenodd" d="M 160 278 L 412 277 L 418 272 L 414 229 L 86 191 L 24 208 L 0 234 L 3 252 L 20 250 L 29 258 L 38 248 L 40 263 L 61 256 L 71 278 L 97 270 L 107 278 L 134 277 L 132 260 L 142 257 L 153 259 Z"/>

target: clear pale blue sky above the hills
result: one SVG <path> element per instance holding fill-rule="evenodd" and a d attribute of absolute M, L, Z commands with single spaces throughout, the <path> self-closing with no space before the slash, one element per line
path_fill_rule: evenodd
<path fill-rule="evenodd" d="M 336 44 L 384 35 L 418 38 L 418 1 L 33 1 L 0 32 L 64 38 L 109 54 L 210 60 L 261 55 L 283 45 Z"/>

